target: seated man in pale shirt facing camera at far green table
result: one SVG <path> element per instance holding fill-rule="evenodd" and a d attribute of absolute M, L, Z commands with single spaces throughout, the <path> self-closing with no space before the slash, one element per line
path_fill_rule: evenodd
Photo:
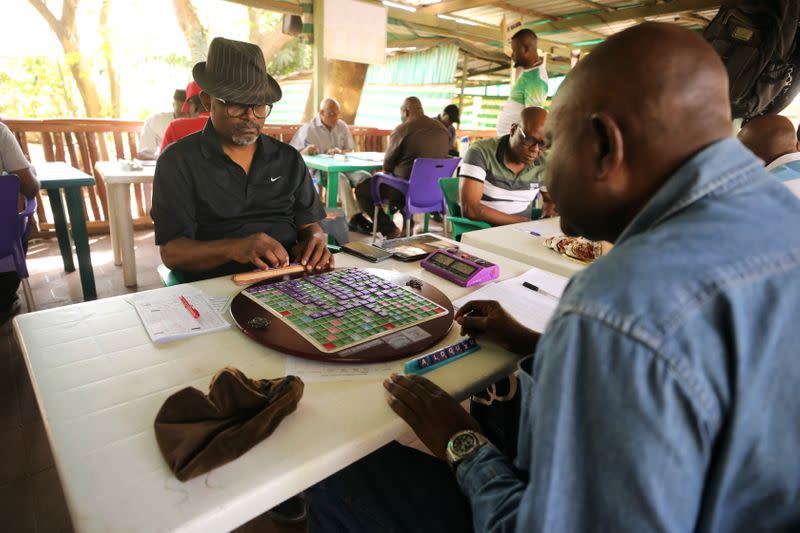
<path fill-rule="evenodd" d="M 339 119 L 340 115 L 339 102 L 333 98 L 325 98 L 319 105 L 319 114 L 311 122 L 303 124 L 289 144 L 297 148 L 301 154 L 308 155 L 352 152 L 355 147 L 353 134 L 350 133 L 345 121 Z M 314 173 L 318 174 L 316 170 Z M 361 214 L 353 194 L 353 187 L 369 177 L 370 173 L 364 170 L 339 173 L 338 195 L 351 231 L 361 233 L 372 231 L 372 225 Z"/>

